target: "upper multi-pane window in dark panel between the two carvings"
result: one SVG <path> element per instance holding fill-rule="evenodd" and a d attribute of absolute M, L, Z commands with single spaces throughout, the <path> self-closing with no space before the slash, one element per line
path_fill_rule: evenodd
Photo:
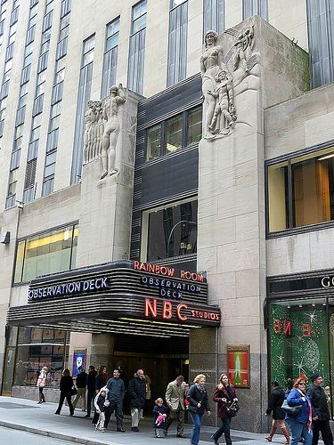
<path fill-rule="evenodd" d="M 200 142 L 202 107 L 183 111 L 146 130 L 146 158 L 159 158 L 167 153 Z"/>

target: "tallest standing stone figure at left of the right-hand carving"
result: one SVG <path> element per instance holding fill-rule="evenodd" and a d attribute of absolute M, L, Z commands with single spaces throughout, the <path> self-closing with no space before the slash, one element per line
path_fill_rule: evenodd
<path fill-rule="evenodd" d="M 205 36 L 205 52 L 200 57 L 200 72 L 202 74 L 202 91 L 204 96 L 204 106 L 206 109 L 204 134 L 205 137 L 214 137 L 210 129 L 216 108 L 216 98 L 208 93 L 216 91 L 216 75 L 223 70 L 229 72 L 224 64 L 223 48 L 216 44 L 216 31 L 208 31 Z"/>

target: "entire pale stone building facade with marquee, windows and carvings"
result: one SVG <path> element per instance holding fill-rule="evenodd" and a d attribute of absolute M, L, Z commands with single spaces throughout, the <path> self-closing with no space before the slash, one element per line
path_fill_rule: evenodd
<path fill-rule="evenodd" d="M 330 5 L 155 4 L 2 2 L 2 392 L 229 370 L 262 431 L 271 380 L 333 388 Z"/>

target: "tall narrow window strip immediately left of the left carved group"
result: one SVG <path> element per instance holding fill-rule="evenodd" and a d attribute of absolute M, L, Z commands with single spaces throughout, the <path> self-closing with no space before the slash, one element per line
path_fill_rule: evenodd
<path fill-rule="evenodd" d="M 89 37 L 83 46 L 82 68 L 80 70 L 78 94 L 77 94 L 77 116 L 74 135 L 72 170 L 70 183 L 74 184 L 81 178 L 82 154 L 84 146 L 85 112 L 91 95 L 93 61 L 94 61 L 94 36 Z"/>

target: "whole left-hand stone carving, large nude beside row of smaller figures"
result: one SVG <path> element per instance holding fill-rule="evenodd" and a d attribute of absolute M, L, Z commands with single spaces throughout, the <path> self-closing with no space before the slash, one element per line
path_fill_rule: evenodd
<path fill-rule="evenodd" d="M 85 115 L 84 164 L 101 158 L 100 179 L 118 174 L 115 166 L 120 129 L 118 109 L 125 101 L 126 94 L 121 84 L 111 86 L 109 96 L 103 101 L 88 101 Z"/>

